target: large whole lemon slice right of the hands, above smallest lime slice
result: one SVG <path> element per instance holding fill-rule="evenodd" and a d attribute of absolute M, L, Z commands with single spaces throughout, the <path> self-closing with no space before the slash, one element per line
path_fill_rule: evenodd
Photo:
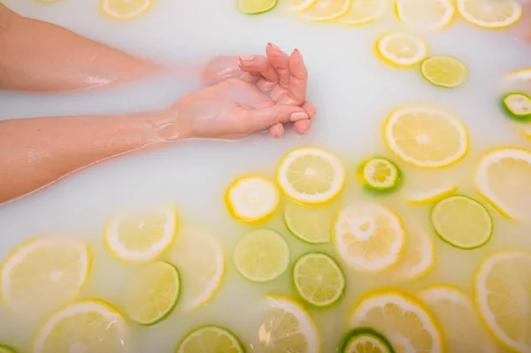
<path fill-rule="evenodd" d="M 419 167 L 452 165 L 468 150 L 466 128 L 450 112 L 437 108 L 412 106 L 394 111 L 383 133 L 396 156 Z"/>

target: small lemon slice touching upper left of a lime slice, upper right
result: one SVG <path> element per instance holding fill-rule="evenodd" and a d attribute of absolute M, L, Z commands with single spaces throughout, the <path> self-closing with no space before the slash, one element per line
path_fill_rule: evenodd
<path fill-rule="evenodd" d="M 390 65 L 411 66 L 427 57 L 427 42 L 415 35 L 393 32 L 378 39 L 376 53 Z"/>

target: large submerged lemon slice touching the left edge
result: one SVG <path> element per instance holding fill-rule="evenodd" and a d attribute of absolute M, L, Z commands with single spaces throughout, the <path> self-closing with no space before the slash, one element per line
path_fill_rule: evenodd
<path fill-rule="evenodd" d="M 82 242 L 55 238 L 26 242 L 2 265 L 4 303 L 26 313 L 58 309 L 78 295 L 89 278 L 90 262 L 89 249 Z"/>

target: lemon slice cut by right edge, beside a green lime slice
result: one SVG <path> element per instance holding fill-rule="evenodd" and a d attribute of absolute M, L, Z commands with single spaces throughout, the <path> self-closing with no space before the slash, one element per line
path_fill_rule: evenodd
<path fill-rule="evenodd" d="M 475 187 L 497 211 L 526 220 L 531 207 L 531 151 L 493 150 L 481 158 Z"/>

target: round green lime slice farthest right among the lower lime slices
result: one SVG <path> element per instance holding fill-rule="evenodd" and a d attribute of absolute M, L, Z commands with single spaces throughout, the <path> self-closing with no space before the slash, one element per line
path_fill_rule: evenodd
<path fill-rule="evenodd" d="M 489 211 L 467 196 L 449 196 L 431 212 L 435 232 L 459 249 L 476 249 L 489 242 L 493 223 Z"/>

